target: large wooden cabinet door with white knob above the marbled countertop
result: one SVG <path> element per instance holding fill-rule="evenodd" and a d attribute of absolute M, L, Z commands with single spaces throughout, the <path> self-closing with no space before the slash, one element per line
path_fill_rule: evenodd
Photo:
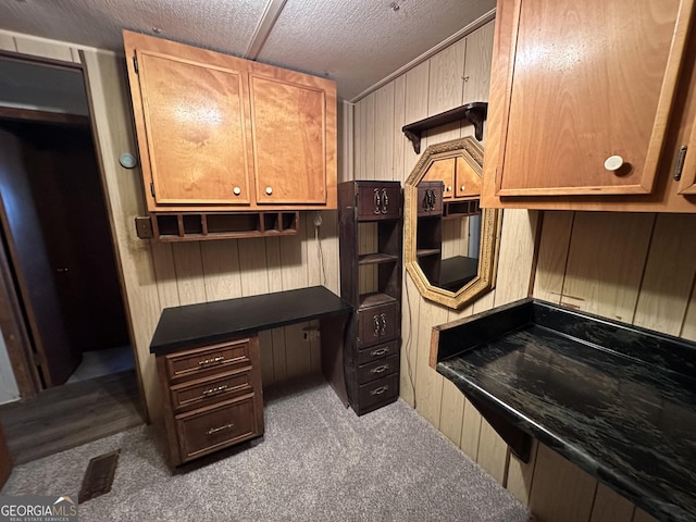
<path fill-rule="evenodd" d="M 693 3 L 515 0 L 495 194 L 649 194 Z"/>

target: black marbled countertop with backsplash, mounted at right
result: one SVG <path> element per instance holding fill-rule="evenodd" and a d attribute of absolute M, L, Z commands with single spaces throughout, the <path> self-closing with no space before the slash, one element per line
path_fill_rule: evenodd
<path fill-rule="evenodd" d="M 695 344 L 529 299 L 435 330 L 465 395 L 659 520 L 696 520 Z"/>

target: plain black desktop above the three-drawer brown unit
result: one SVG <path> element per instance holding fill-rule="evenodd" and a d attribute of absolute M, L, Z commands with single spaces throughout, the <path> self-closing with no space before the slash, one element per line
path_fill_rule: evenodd
<path fill-rule="evenodd" d="M 165 308 L 150 353 L 163 356 L 351 311 L 349 303 L 323 286 Z"/>

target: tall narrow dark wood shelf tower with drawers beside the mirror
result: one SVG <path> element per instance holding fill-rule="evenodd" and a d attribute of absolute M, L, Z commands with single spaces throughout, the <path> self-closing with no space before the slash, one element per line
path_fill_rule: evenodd
<path fill-rule="evenodd" d="M 442 209 L 442 197 L 435 199 Z M 399 182 L 338 185 L 340 297 L 357 312 L 344 337 L 344 373 L 350 407 L 359 415 L 399 396 L 401 208 Z"/>

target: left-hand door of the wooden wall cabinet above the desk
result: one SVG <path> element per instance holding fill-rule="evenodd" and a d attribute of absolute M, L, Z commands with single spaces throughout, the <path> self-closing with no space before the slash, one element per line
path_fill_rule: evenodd
<path fill-rule="evenodd" d="M 248 204 L 245 73 L 136 52 L 157 204 Z"/>

